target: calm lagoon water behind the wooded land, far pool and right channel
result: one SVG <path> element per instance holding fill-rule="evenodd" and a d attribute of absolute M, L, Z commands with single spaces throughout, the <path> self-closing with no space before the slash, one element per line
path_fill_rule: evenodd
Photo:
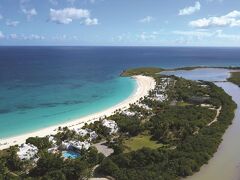
<path fill-rule="evenodd" d="M 171 71 L 167 74 L 190 80 L 225 81 L 229 77 L 229 70 L 207 68 L 192 71 Z M 186 178 L 187 180 L 240 179 L 240 88 L 229 82 L 215 84 L 223 88 L 237 103 L 236 115 L 233 124 L 225 132 L 223 141 L 214 157 L 199 172 Z"/>

